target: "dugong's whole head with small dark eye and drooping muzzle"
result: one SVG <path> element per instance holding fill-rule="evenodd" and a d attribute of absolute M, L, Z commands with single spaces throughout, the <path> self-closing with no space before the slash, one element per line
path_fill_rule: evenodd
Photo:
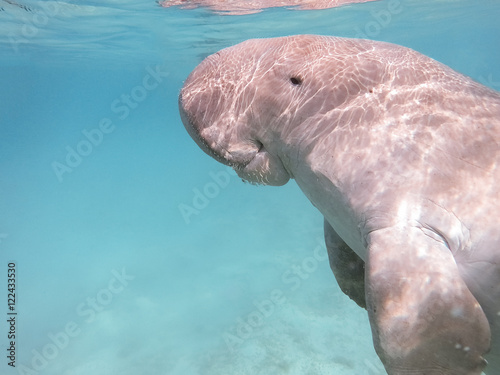
<path fill-rule="evenodd" d="M 369 92 L 377 61 L 368 41 L 300 35 L 254 39 L 207 57 L 179 96 L 197 144 L 253 183 L 283 185 L 305 142 L 327 132 L 332 111 Z M 303 149 L 303 147 L 302 147 Z"/>

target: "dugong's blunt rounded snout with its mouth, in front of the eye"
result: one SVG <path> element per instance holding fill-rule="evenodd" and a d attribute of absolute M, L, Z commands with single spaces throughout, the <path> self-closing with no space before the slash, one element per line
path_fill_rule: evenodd
<path fill-rule="evenodd" d="M 217 161 L 229 165 L 245 181 L 284 185 L 290 173 L 271 153 L 253 120 L 254 93 L 244 90 L 245 71 L 222 73 L 231 61 L 227 51 L 207 57 L 189 75 L 179 94 L 179 113 L 189 135 Z"/>

